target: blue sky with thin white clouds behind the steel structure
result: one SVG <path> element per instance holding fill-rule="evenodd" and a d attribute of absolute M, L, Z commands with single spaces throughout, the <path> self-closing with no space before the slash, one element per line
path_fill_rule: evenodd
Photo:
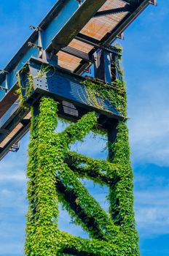
<path fill-rule="evenodd" d="M 38 25 L 55 0 L 1 0 L 0 66 L 3 68 Z M 123 66 L 128 93 L 128 127 L 135 174 L 135 217 L 141 256 L 169 255 L 169 1 L 150 6 L 125 31 Z M 60 129 L 60 127 L 59 127 Z M 99 146 L 76 145 L 82 153 L 101 157 Z M 28 135 L 17 154 L 9 153 L 0 165 L 0 256 L 23 255 L 27 211 L 25 164 Z M 90 149 L 90 150 L 89 150 Z M 106 152 L 103 152 L 103 157 Z M 104 208 L 106 188 L 85 184 Z M 67 222 L 65 222 L 65 219 Z M 60 227 L 86 236 L 69 225 L 66 212 Z"/>

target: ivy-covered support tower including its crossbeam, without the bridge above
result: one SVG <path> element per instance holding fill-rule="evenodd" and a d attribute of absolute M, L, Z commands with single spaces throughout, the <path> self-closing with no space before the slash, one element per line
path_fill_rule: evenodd
<path fill-rule="evenodd" d="M 96 78 L 76 77 L 76 85 L 71 84 L 70 91 L 73 94 L 76 89 L 80 104 L 72 97 L 60 100 L 54 89 L 51 91 L 58 72 L 64 78 L 68 73 L 62 74 L 35 59 L 18 73 L 20 102 L 23 108 L 32 105 L 25 255 L 139 255 L 122 50 L 116 46 L 110 51 L 99 50 L 95 55 Z M 35 86 L 41 90 L 44 85 L 48 91 L 34 103 Z M 62 90 L 64 86 L 65 83 Z M 71 121 L 60 133 L 55 132 L 58 118 Z M 90 130 L 106 135 L 107 160 L 70 151 L 70 145 L 82 140 Z M 80 178 L 109 187 L 109 213 L 90 195 Z M 58 229 L 59 202 L 76 225 L 90 234 L 90 239 Z"/>

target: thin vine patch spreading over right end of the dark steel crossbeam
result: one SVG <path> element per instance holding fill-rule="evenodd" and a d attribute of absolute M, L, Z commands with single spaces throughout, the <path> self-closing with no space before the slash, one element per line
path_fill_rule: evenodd
<path fill-rule="evenodd" d="M 114 50 L 114 47 L 111 47 L 111 50 Z M 98 109 L 106 110 L 106 101 L 114 106 L 119 114 L 125 117 L 127 116 L 127 100 L 125 82 L 124 79 L 122 79 L 122 57 L 120 56 L 122 48 L 116 48 L 116 50 L 118 50 L 118 53 L 115 55 L 115 59 L 111 61 L 111 72 L 117 72 L 117 74 L 115 74 L 116 79 L 111 85 L 103 83 L 101 80 L 93 80 L 90 78 L 84 80 L 82 84 L 85 86 L 88 105 L 94 105 Z"/>

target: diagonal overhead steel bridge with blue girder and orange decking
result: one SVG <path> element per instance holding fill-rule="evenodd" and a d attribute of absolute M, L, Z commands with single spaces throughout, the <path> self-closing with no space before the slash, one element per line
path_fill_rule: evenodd
<path fill-rule="evenodd" d="M 31 37 L 0 72 L 0 159 L 29 128 L 28 113 L 22 116 L 26 119 L 24 124 L 17 117 L 15 94 L 17 72 L 24 64 L 33 56 L 68 70 L 71 78 L 82 75 L 99 50 L 112 53 L 109 44 L 122 37 L 122 32 L 149 4 L 156 3 L 154 0 L 59 0 L 39 26 L 31 26 L 34 29 Z M 109 82 L 109 67 L 101 62 L 105 70 L 100 67 L 96 75 L 102 79 L 105 76 L 104 80 Z"/>

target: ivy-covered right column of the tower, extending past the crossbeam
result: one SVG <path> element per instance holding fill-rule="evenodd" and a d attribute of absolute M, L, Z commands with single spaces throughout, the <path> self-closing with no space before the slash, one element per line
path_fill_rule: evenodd
<path fill-rule="evenodd" d="M 119 107 L 126 117 L 127 99 L 125 82 L 120 59 L 115 59 L 112 71 L 116 69 L 117 77 L 114 86 L 117 86 L 117 98 Z M 113 66 L 112 65 L 112 66 Z M 114 74 L 112 74 L 112 77 Z M 121 78 L 119 80 L 119 78 Z M 118 108 L 118 106 L 117 106 Z M 130 145 L 126 121 L 119 121 L 117 126 L 110 127 L 108 131 L 109 162 L 117 166 L 117 178 L 109 189 L 110 214 L 115 225 L 119 225 L 120 231 L 125 234 L 125 241 L 117 241 L 119 246 L 125 248 L 125 255 L 139 255 L 138 233 L 135 230 L 135 215 L 133 210 L 133 170 L 130 162 Z"/>

